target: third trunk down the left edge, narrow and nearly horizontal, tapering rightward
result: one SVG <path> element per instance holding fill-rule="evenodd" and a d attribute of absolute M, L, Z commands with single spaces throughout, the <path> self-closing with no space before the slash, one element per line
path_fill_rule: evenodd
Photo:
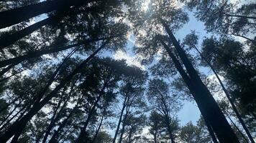
<path fill-rule="evenodd" d="M 7 66 L 9 64 L 11 64 L 12 66 L 15 66 L 15 65 L 21 63 L 22 61 L 32 59 L 32 58 L 36 58 L 36 57 L 42 56 L 44 54 L 51 54 L 51 53 L 55 53 L 55 52 L 58 52 L 58 51 L 63 51 L 63 50 L 66 50 L 66 49 L 70 49 L 70 48 L 73 48 L 73 47 L 76 47 L 76 46 L 81 46 L 83 44 L 88 44 L 88 43 L 93 42 L 93 41 L 100 41 L 100 40 L 109 39 L 109 38 L 111 38 L 111 37 L 100 38 L 100 39 L 88 39 L 88 40 L 79 42 L 77 44 L 71 44 L 71 45 L 68 45 L 68 46 L 61 46 L 61 47 L 58 47 L 58 48 L 50 48 L 50 49 L 42 49 L 40 51 L 32 51 L 32 52 L 29 52 L 29 53 L 24 54 L 22 56 L 17 56 L 17 57 L 12 58 L 12 59 L 6 59 L 4 61 L 0 61 L 0 67 Z"/>

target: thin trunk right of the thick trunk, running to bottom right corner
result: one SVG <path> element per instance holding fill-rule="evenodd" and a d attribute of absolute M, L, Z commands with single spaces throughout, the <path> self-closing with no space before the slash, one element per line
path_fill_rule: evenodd
<path fill-rule="evenodd" d="M 249 137 L 250 141 L 252 143 L 255 143 L 255 141 L 253 140 L 252 134 L 250 133 L 249 129 L 246 127 L 246 124 L 244 123 L 244 120 L 242 119 L 241 115 L 239 114 L 239 112 L 237 110 L 237 107 L 235 106 L 234 102 L 232 101 L 232 98 L 230 97 L 229 92 L 224 87 L 224 84 L 221 82 L 221 79 L 219 78 L 218 73 L 215 71 L 214 67 L 211 66 L 211 63 L 201 54 L 201 52 L 196 47 L 195 47 L 195 49 L 200 54 L 201 58 L 204 59 L 204 61 L 206 61 L 206 63 L 210 66 L 211 70 L 214 72 L 216 78 L 219 81 L 219 84 L 221 84 L 222 90 L 224 91 L 224 93 L 227 96 L 227 99 L 229 99 L 229 102 L 232 105 L 232 109 L 234 110 L 235 114 L 237 115 L 237 118 L 239 119 L 239 122 L 242 124 L 242 127 L 244 128 L 244 131 L 246 132 L 246 134 Z"/>

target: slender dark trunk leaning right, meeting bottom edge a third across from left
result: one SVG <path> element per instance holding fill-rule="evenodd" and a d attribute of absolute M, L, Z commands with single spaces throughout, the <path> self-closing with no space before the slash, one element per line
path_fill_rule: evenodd
<path fill-rule="evenodd" d="M 91 109 L 88 113 L 86 122 L 83 124 L 83 128 L 81 129 L 78 139 L 76 139 L 77 143 L 83 143 L 83 137 L 86 136 L 86 128 L 88 127 L 91 117 L 93 116 L 94 112 L 96 111 L 96 107 L 98 106 L 98 103 L 99 103 L 101 97 L 104 95 L 104 89 L 105 89 L 105 84 L 104 84 L 103 88 L 101 89 L 101 92 L 100 92 L 99 96 L 97 97 L 96 101 L 94 102 L 93 107 L 91 107 Z"/>

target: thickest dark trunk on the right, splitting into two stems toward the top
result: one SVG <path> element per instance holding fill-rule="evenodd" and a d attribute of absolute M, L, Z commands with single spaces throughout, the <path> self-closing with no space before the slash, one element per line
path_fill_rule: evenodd
<path fill-rule="evenodd" d="M 209 92 L 209 89 L 207 89 L 204 83 L 201 81 L 196 70 L 193 68 L 193 65 L 188 60 L 185 51 L 183 51 L 183 49 L 178 44 L 178 41 L 175 39 L 175 36 L 173 36 L 168 25 L 163 22 L 163 26 L 165 26 L 165 30 L 168 32 L 171 41 L 173 41 L 173 45 L 178 51 L 180 59 L 183 61 L 184 66 L 186 66 L 190 77 L 188 77 L 188 74 L 186 74 L 182 66 L 179 64 L 178 59 L 175 59 L 175 66 L 186 82 L 188 89 L 191 91 L 194 99 L 196 100 L 201 114 L 209 121 L 220 142 L 239 142 L 236 135 L 234 134 L 234 131 L 230 127 L 229 122 L 227 122 L 227 119 L 224 117 L 224 114 L 221 112 L 221 109 L 219 109 L 218 104 L 216 104 L 216 101 Z M 165 49 L 168 51 L 168 54 L 170 54 L 170 57 L 174 59 L 175 56 L 171 55 L 172 51 L 169 49 L 169 47 L 163 42 L 163 40 L 161 43 L 165 46 Z"/>

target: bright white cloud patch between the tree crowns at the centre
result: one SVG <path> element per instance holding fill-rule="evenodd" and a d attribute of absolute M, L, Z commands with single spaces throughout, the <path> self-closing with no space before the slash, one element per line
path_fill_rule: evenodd
<path fill-rule="evenodd" d="M 124 51 L 116 51 L 116 53 L 114 54 L 114 59 L 116 60 L 122 60 L 124 59 L 128 65 L 133 65 L 133 66 L 137 66 L 140 67 L 140 69 L 145 70 L 145 66 L 143 66 L 142 64 L 140 64 L 140 61 L 138 61 L 136 59 L 136 56 L 132 56 L 130 54 L 125 53 Z"/>

